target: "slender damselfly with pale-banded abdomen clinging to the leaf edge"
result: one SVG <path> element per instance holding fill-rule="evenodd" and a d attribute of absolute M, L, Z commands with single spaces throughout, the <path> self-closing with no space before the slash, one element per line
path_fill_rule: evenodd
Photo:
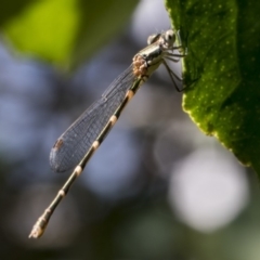
<path fill-rule="evenodd" d="M 150 36 L 148 46 L 134 55 L 131 66 L 118 76 L 101 99 L 93 103 L 57 139 L 51 150 L 51 168 L 56 172 L 75 169 L 56 197 L 38 219 L 29 237 L 38 238 L 43 234 L 56 206 L 83 171 L 86 164 L 116 123 L 127 103 L 160 64 L 165 65 L 174 87 L 179 90 L 176 79 L 181 79 L 166 62 L 167 60 L 179 62 L 180 57 L 185 56 L 185 54 L 173 53 L 174 50 L 181 50 L 181 46 L 174 46 L 177 36 L 179 35 L 172 29 Z"/>

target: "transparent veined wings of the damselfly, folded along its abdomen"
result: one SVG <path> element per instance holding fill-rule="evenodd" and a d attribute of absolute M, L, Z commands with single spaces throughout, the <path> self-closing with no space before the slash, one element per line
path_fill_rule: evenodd
<path fill-rule="evenodd" d="M 76 167 L 109 118 L 121 104 L 135 77 L 132 66 L 119 75 L 104 92 L 56 141 L 51 150 L 53 171 L 63 172 Z"/>

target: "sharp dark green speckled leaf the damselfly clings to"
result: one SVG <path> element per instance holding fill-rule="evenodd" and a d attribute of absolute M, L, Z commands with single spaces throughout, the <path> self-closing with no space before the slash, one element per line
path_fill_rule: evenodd
<path fill-rule="evenodd" d="M 183 107 L 196 125 L 260 174 L 260 2 L 167 0 L 187 35 Z M 197 76 L 196 76 L 197 75 Z"/>

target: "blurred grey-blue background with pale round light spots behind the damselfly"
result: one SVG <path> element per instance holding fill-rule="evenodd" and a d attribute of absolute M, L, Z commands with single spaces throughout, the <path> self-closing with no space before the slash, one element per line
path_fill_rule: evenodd
<path fill-rule="evenodd" d="M 164 67 L 130 102 L 44 235 L 28 239 L 68 178 L 51 172 L 55 140 L 151 34 L 168 28 L 162 0 L 139 1 L 123 29 L 69 75 L 1 38 L 0 259 L 260 259 L 256 174 L 183 113 Z"/>

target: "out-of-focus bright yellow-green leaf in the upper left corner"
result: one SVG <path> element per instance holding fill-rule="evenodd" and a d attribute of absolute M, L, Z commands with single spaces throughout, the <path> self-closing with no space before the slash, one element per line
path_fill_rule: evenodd
<path fill-rule="evenodd" d="M 12 1 L 11 1 L 12 2 Z M 115 36 L 129 20 L 134 1 L 38 0 L 21 8 L 1 4 L 1 29 L 23 53 L 75 67 Z"/>

